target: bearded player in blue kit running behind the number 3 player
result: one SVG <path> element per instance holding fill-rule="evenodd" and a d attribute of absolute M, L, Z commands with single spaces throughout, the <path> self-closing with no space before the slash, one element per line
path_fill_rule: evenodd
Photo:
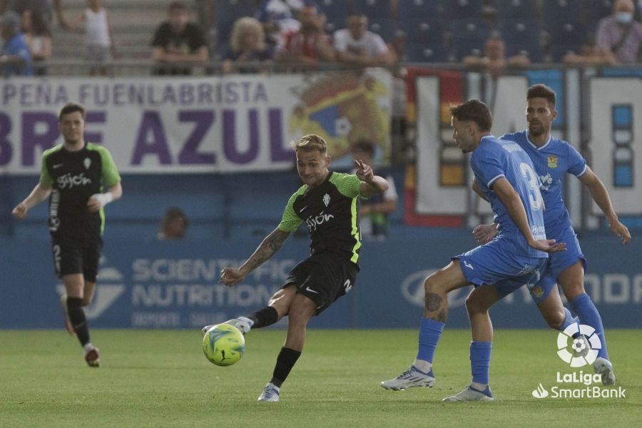
<path fill-rule="evenodd" d="M 606 216 L 611 232 L 625 244 L 631 240 L 631 234 L 618 220 L 611 198 L 608 197 L 608 191 L 593 170 L 586 165 L 581 154 L 566 141 L 551 136 L 551 125 L 557 116 L 555 102 L 556 94 L 551 88 L 541 84 L 531 86 L 526 92 L 526 121 L 529 128 L 501 137 L 519 144 L 533 161 L 535 171 L 542 182 L 541 195 L 546 204 L 544 211 L 546 236 L 566 243 L 567 248 L 564 253 L 551 255 L 544 275 L 539 282 L 531 286 L 531 296 L 549 326 L 564 330 L 574 320 L 569 310 L 561 305 L 557 297 L 559 292 L 556 282 L 561 285 L 566 300 L 578 315 L 579 322 L 596 330 L 601 340 L 601 349 L 598 350 L 593 368 L 596 373 L 601 374 L 603 384 L 611 385 L 615 383 L 616 377 L 606 352 L 604 327 L 597 308 L 584 290 L 586 259 L 582 254 L 569 211 L 566 210 L 562 198 L 563 178 L 566 173 L 575 175 L 582 184 L 586 185 L 591 197 Z M 473 230 L 473 234 L 479 242 L 485 243 L 494 238 L 496 227 L 479 225 Z M 490 307 L 494 303 L 494 297 L 491 295 L 491 290 L 485 290 L 485 293 L 486 297 L 481 297 L 481 294 L 474 298 L 472 296 L 471 306 L 479 307 L 481 310 L 484 310 L 484 306 Z"/>

